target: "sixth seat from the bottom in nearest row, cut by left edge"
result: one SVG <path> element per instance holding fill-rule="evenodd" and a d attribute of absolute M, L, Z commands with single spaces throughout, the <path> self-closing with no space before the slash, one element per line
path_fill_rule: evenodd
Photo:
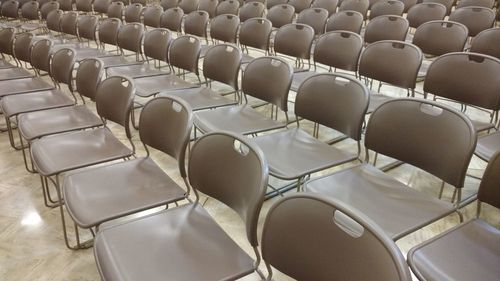
<path fill-rule="evenodd" d="M 40 77 L 0 81 L 0 97 L 54 89 Z"/>

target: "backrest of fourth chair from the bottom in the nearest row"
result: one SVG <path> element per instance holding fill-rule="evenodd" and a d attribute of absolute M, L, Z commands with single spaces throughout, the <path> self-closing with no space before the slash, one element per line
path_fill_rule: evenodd
<path fill-rule="evenodd" d="M 97 114 L 125 128 L 127 138 L 131 138 L 130 112 L 134 103 L 135 87 L 132 79 L 111 76 L 99 83 L 95 96 Z"/>

